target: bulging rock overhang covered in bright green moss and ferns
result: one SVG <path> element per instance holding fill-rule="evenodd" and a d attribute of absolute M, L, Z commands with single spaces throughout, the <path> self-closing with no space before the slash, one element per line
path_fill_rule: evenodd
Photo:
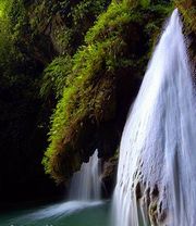
<path fill-rule="evenodd" d="M 73 58 L 62 99 L 51 118 L 46 172 L 69 178 L 96 148 L 110 158 L 120 141 L 155 39 L 172 5 L 113 1 Z"/>

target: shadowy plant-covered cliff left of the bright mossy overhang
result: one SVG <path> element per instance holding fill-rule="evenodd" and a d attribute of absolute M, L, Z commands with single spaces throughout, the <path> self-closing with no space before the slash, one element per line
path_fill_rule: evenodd
<path fill-rule="evenodd" d="M 61 73 L 63 79 L 60 62 L 71 58 L 108 3 L 0 1 L 1 204 L 3 200 L 42 199 L 57 193 L 54 184 L 44 173 L 41 159 L 47 148 L 49 117 L 60 89 L 56 84 L 63 87 L 63 83 L 59 80 L 48 87 L 48 76 Z M 53 39 L 56 33 L 59 35 Z M 69 47 L 68 33 L 72 33 L 74 43 L 69 41 Z M 56 56 L 59 60 L 51 63 Z"/>

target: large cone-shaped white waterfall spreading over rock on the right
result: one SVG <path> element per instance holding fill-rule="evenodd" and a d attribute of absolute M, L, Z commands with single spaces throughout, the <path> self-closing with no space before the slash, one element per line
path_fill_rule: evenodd
<path fill-rule="evenodd" d="M 196 225 L 195 103 L 175 10 L 123 131 L 112 226 Z"/>

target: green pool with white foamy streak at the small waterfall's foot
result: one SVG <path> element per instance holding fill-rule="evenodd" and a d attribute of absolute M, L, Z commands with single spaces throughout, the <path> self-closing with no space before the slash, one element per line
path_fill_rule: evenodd
<path fill-rule="evenodd" d="M 70 201 L 0 214 L 0 226 L 109 226 L 109 202 Z"/>

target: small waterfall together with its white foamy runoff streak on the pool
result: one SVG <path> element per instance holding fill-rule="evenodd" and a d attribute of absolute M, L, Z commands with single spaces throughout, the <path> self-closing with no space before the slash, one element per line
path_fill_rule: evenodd
<path fill-rule="evenodd" d="M 81 171 L 73 175 L 68 201 L 42 208 L 19 218 L 19 222 L 50 221 L 52 218 L 61 221 L 61 218 L 76 212 L 103 204 L 100 200 L 101 183 L 99 176 L 100 161 L 98 159 L 98 150 L 96 150 L 93 156 L 89 158 L 89 162 L 83 163 Z"/>

